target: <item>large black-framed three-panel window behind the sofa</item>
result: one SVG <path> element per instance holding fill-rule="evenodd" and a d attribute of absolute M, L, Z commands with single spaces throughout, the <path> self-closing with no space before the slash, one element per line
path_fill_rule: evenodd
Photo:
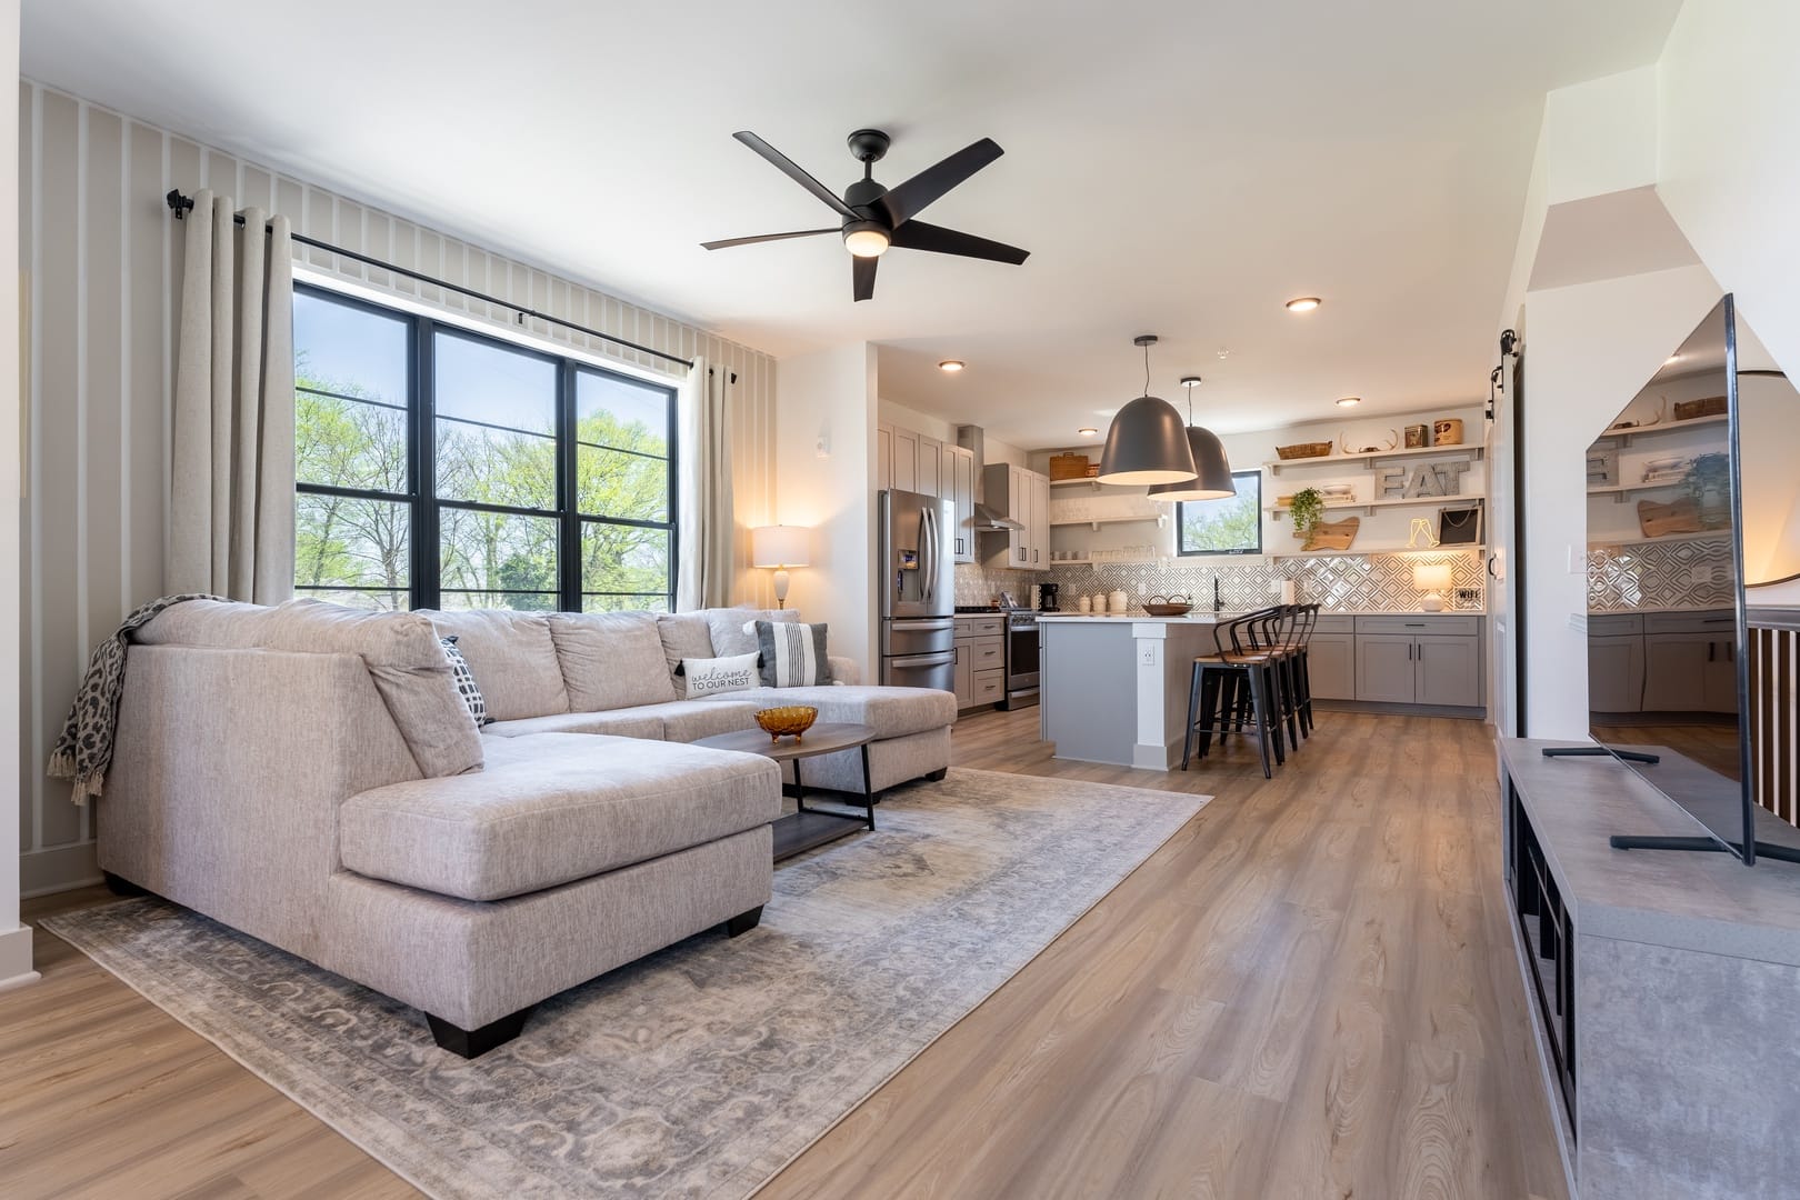
<path fill-rule="evenodd" d="M 666 612 L 675 390 L 295 286 L 295 592 Z"/>

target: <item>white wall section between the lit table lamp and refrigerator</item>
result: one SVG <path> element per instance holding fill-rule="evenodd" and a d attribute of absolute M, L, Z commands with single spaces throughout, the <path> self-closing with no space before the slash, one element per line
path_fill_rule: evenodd
<path fill-rule="evenodd" d="M 788 604 L 828 622 L 832 653 L 875 682 L 875 347 L 783 358 L 776 394 L 776 520 L 812 529 L 812 563 L 790 572 Z"/>

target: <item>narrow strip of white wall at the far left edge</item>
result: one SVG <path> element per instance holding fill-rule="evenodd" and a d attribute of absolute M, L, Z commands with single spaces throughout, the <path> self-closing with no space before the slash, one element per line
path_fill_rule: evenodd
<path fill-rule="evenodd" d="M 0 0 L 0 63 L 18 74 L 18 0 Z M 18 92 L 4 88 L 0 97 L 0 228 L 18 227 Z M 11 565 L 0 587 L 0 646 L 20 646 L 18 552 L 20 552 L 20 455 L 23 444 L 18 421 L 20 327 L 18 241 L 0 237 L 0 563 Z M 20 669 L 18 655 L 0 655 L 0 988 L 36 979 L 31 970 L 31 930 L 18 923 L 18 847 L 29 819 L 22 802 L 18 774 L 20 752 Z"/>

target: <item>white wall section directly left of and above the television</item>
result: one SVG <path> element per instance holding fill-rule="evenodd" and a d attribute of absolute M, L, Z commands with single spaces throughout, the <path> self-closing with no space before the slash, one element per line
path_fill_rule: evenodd
<path fill-rule="evenodd" d="M 1703 266 L 1526 297 L 1528 738 L 1588 736 L 1588 446 L 1719 302 Z"/>

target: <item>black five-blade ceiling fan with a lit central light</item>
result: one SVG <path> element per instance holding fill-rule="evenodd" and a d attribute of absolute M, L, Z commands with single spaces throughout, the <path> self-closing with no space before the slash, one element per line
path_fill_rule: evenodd
<path fill-rule="evenodd" d="M 851 257 L 851 284 L 859 300 L 875 295 L 875 264 L 887 246 L 902 250 L 931 250 L 932 254 L 959 254 L 965 259 L 990 259 L 994 263 L 1012 263 L 1017 266 L 1030 257 L 1030 250 L 1008 246 L 974 234 L 963 234 L 941 225 L 927 225 L 913 218 L 931 201 L 967 180 L 970 175 L 999 158 L 1004 151 L 985 137 L 956 151 L 934 167 L 925 167 L 898 187 L 882 187 L 875 182 L 875 164 L 887 153 L 889 137 L 880 130 L 857 130 L 850 135 L 850 153 L 862 164 L 862 178 L 844 189 L 839 198 L 824 184 L 812 178 L 779 149 L 751 131 L 733 133 L 758 155 L 776 166 L 814 196 L 823 200 L 832 212 L 844 218 L 842 225 L 830 228 L 801 228 L 792 234 L 761 234 L 758 237 L 727 237 L 724 241 L 702 241 L 707 250 L 725 246 L 747 246 L 758 241 L 785 241 L 788 237 L 815 237 L 819 234 L 842 234 L 844 248 Z"/>

